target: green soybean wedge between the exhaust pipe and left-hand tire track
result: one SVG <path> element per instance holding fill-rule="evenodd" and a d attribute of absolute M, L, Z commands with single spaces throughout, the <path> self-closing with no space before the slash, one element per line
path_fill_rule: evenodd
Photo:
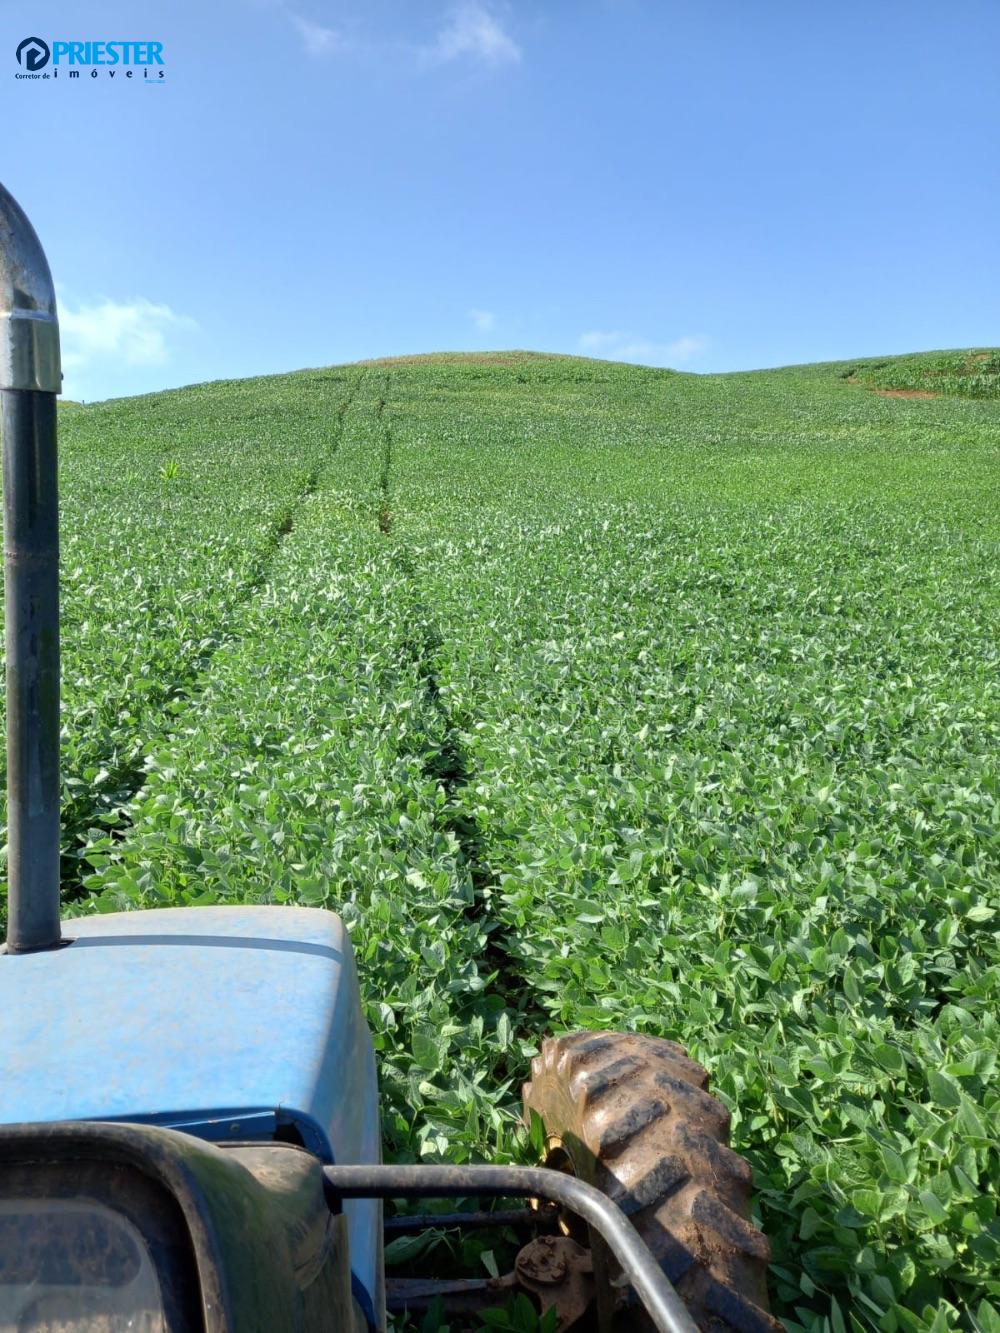
<path fill-rule="evenodd" d="M 272 381 L 253 407 L 244 387 L 221 384 L 136 400 L 124 419 L 115 405 L 60 413 L 71 440 L 60 468 L 69 894 L 88 829 L 120 824 L 155 737 L 265 577 L 336 444 L 352 377 L 317 383 L 292 441 L 287 385 Z"/>

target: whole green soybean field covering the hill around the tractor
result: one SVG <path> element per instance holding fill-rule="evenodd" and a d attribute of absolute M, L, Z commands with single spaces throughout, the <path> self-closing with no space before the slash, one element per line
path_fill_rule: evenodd
<path fill-rule="evenodd" d="M 395 1160 L 533 1160 L 545 1034 L 679 1041 L 788 1329 L 997 1333 L 997 367 L 65 404 L 68 912 L 340 912 Z"/>

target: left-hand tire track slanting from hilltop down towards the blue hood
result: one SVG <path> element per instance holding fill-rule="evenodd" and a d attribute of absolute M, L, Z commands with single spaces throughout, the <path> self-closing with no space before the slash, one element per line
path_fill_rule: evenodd
<path fill-rule="evenodd" d="M 333 427 L 327 451 L 313 463 L 303 480 L 299 493 L 275 517 L 271 531 L 261 544 L 257 560 L 252 564 L 248 576 L 237 585 L 235 595 L 227 608 L 225 617 L 220 628 L 203 640 L 200 651 L 177 661 L 176 670 L 169 682 L 157 682 L 145 697 L 145 709 L 151 714 L 164 714 L 179 702 L 191 702 L 199 694 L 197 684 L 212 664 L 212 659 L 232 639 L 233 623 L 240 612 L 253 600 L 268 579 L 273 568 L 283 543 L 295 528 L 295 521 L 309 497 L 316 493 L 320 479 L 329 468 L 340 449 L 344 437 L 344 421 L 351 404 L 357 397 L 364 380 L 369 372 L 359 375 L 348 387 L 347 393 L 340 400 L 333 413 Z M 172 722 L 164 718 L 163 729 L 156 733 L 156 740 L 163 741 L 171 736 Z M 145 749 L 147 746 L 144 746 Z M 116 793 L 113 805 L 108 806 L 93 798 L 92 790 L 68 808 L 63 809 L 63 854 L 60 857 L 60 890 L 64 898 L 76 900 L 85 897 L 87 890 L 83 880 L 89 874 L 89 869 L 83 858 L 87 848 L 87 833 L 95 825 L 100 825 L 105 837 L 121 840 L 127 836 L 132 824 L 125 813 L 128 804 L 139 794 L 145 785 L 145 756 L 133 754 L 124 762 L 119 760 L 119 748 L 99 753 L 95 764 L 107 770 L 105 785 Z"/>

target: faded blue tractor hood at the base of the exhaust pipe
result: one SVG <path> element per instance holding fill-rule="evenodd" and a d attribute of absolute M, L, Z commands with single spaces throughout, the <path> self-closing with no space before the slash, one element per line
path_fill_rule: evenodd
<path fill-rule="evenodd" d="M 380 1160 L 375 1057 L 340 917 L 171 908 L 63 933 L 63 948 L 0 957 L 0 1124 L 124 1120 Z M 375 1317 L 380 1210 L 357 1200 L 344 1212 Z"/>

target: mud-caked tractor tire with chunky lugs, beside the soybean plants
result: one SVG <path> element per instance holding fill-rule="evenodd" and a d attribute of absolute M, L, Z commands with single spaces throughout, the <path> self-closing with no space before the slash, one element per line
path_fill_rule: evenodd
<path fill-rule="evenodd" d="M 768 1313 L 771 1248 L 751 1222 L 751 1168 L 727 1146 L 729 1112 L 707 1086 L 707 1070 L 672 1041 L 579 1032 L 543 1042 L 523 1096 L 525 1114 L 541 1118 L 547 1164 L 624 1209 L 700 1329 L 780 1333 Z M 636 1306 L 619 1325 L 651 1326 Z"/>

